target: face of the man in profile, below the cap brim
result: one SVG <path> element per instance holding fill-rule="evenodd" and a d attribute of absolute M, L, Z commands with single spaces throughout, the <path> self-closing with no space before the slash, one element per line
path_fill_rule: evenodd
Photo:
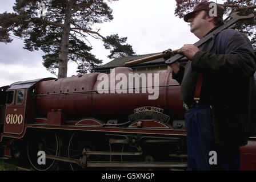
<path fill-rule="evenodd" d="M 190 22 L 190 31 L 196 34 L 198 31 L 202 31 L 207 26 L 205 11 L 195 12 L 194 15 L 188 20 Z"/>

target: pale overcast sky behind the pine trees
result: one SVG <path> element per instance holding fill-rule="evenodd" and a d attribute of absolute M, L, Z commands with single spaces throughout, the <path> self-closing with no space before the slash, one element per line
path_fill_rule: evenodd
<path fill-rule="evenodd" d="M 15 0 L 0 0 L 0 13 L 13 12 Z M 218 1 L 219 3 L 219 1 Z M 119 0 L 109 3 L 113 9 L 111 22 L 97 24 L 103 36 L 118 34 L 127 36 L 127 43 L 133 46 L 137 55 L 178 49 L 185 43 L 198 41 L 190 32 L 188 23 L 174 15 L 175 0 Z M 23 40 L 13 38 L 9 44 L 0 43 L 0 86 L 16 81 L 55 77 L 42 65 L 42 51 L 30 52 L 23 49 Z M 90 40 L 93 53 L 103 64 L 111 61 L 99 40 Z M 77 75 L 76 65 L 69 63 L 67 76 Z"/>

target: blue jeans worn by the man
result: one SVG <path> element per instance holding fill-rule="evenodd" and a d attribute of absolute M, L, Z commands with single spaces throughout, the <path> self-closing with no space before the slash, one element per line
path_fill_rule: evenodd
<path fill-rule="evenodd" d="M 239 147 L 215 144 L 210 105 L 199 105 L 185 113 L 188 171 L 240 170 Z M 210 151 L 217 154 L 217 164 L 210 164 Z"/>

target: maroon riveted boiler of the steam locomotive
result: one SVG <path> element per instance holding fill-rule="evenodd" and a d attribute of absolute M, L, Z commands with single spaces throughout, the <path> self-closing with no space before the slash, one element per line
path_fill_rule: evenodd
<path fill-rule="evenodd" d="M 125 88 L 121 86 L 118 89 L 116 85 L 120 81 L 116 78 L 111 79 L 111 75 L 106 74 L 108 85 L 105 85 L 106 88 L 101 86 L 98 88 L 101 82 L 106 82 L 106 79 L 101 79 L 102 73 L 39 82 L 37 86 L 38 115 L 47 117 L 47 113 L 49 114 L 49 111 L 55 109 L 62 110 L 66 119 L 79 120 L 93 117 L 103 122 L 115 120 L 122 123 L 128 121 L 127 117 L 134 113 L 134 109 L 154 106 L 161 108 L 173 118 L 182 119 L 183 107 L 179 101 L 179 85 L 171 79 L 170 72 L 150 72 L 153 81 L 155 74 L 159 74 L 158 86 L 154 88 L 158 93 L 155 93 L 155 98 L 151 100 L 149 96 L 153 96 L 153 94 L 147 92 L 147 88 L 150 86 L 146 85 L 148 77 L 145 73 L 137 73 L 138 78 L 133 78 L 133 80 L 130 76 L 130 81 L 133 81 L 130 89 L 128 79 L 129 74 L 133 74 L 132 69 L 118 67 L 112 70 L 111 74 L 113 73 L 115 73 L 113 76 L 121 73 L 123 77 L 127 78 L 124 80 L 125 84 L 122 85 Z M 112 87 L 110 79 L 114 82 Z M 139 84 L 136 85 L 138 82 Z M 154 82 L 151 85 L 153 87 Z M 143 89 L 145 89 L 144 93 Z"/>

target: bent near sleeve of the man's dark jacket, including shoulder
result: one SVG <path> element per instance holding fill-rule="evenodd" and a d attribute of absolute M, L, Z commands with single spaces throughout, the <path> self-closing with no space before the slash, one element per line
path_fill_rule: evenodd
<path fill-rule="evenodd" d="M 223 54 L 214 54 L 204 51 L 195 53 L 192 60 L 193 71 L 207 73 L 231 73 L 239 76 L 251 77 L 256 70 L 256 56 L 247 40 L 240 32 L 235 32 L 225 42 L 219 40 Z"/>

